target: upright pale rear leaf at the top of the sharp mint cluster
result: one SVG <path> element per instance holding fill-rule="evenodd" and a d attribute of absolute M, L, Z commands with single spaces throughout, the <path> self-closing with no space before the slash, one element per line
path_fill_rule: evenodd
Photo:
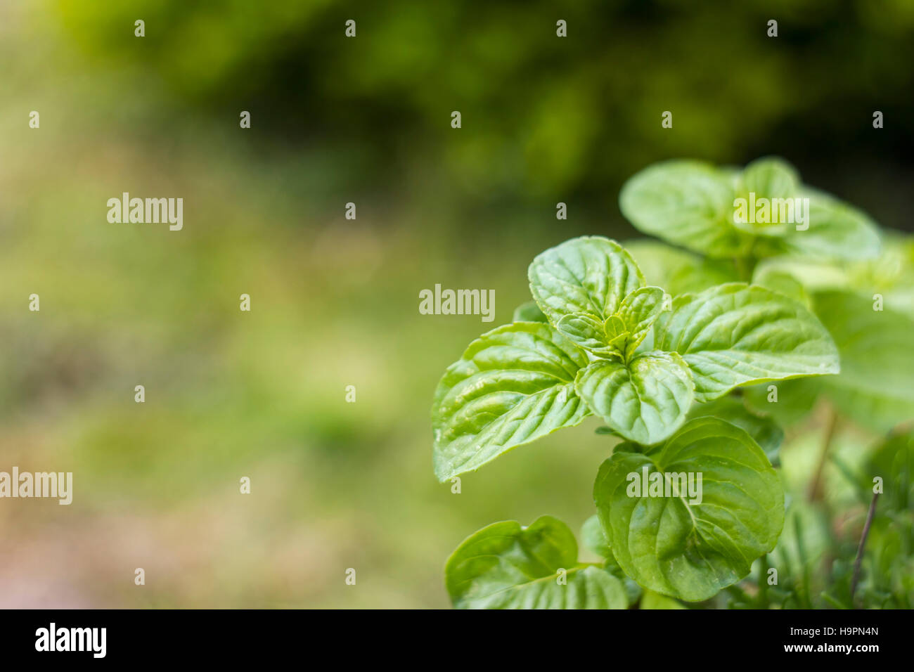
<path fill-rule="evenodd" d="M 629 253 L 599 237 L 575 238 L 542 252 L 527 274 L 533 298 L 553 325 L 576 314 L 602 323 L 644 284 Z"/>

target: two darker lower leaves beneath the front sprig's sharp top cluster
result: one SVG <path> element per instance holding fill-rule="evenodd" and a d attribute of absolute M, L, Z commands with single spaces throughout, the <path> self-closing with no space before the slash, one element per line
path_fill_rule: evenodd
<path fill-rule="evenodd" d="M 670 492 L 632 487 L 642 480 Z M 706 600 L 749 574 L 752 561 L 775 547 L 784 522 L 783 490 L 765 453 L 717 418 L 689 421 L 647 453 L 617 446 L 600 466 L 593 497 L 599 521 L 588 520 L 582 535 L 606 558 L 604 567 L 579 564 L 571 531 L 555 518 L 529 528 L 495 523 L 448 560 L 454 605 L 624 608 L 625 575 L 647 589 L 642 608 L 664 602 L 655 593 Z"/>

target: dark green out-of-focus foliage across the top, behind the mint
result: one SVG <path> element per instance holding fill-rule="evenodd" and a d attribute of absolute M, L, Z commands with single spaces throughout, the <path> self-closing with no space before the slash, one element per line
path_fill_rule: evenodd
<path fill-rule="evenodd" d="M 463 210 L 551 199 L 615 211 L 622 180 L 659 159 L 779 154 L 877 219 L 907 221 L 903 204 L 866 188 L 911 176 L 903 120 L 914 115 L 914 75 L 898 67 L 914 60 L 905 0 L 57 7 L 97 62 L 142 65 L 216 116 L 250 110 L 259 137 L 276 144 L 345 152 L 354 187 L 399 189 L 418 168 L 465 190 L 452 203 Z M 350 18 L 355 38 L 344 36 Z M 556 37 L 559 18 L 569 37 Z M 673 132 L 660 125 L 667 110 Z M 886 115 L 877 133 L 874 110 Z"/>

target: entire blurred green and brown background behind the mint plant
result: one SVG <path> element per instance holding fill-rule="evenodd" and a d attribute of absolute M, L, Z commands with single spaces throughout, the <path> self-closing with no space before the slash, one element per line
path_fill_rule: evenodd
<path fill-rule="evenodd" d="M 529 261 L 635 236 L 619 188 L 671 157 L 781 155 L 911 229 L 911 62 L 909 0 L 3 0 L 0 469 L 75 492 L 0 500 L 0 606 L 447 606 L 461 539 L 577 528 L 609 452 L 590 419 L 432 475 L 431 392 Z M 123 191 L 184 230 L 108 223 Z M 420 315 L 435 283 L 494 323 Z"/>

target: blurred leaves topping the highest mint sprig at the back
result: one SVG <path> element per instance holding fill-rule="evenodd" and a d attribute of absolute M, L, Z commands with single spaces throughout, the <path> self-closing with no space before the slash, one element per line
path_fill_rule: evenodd
<path fill-rule="evenodd" d="M 802 185 L 792 165 L 762 158 L 742 171 L 668 161 L 625 183 L 622 214 L 635 228 L 712 258 L 796 254 L 862 259 L 879 248 L 875 223 Z"/>

